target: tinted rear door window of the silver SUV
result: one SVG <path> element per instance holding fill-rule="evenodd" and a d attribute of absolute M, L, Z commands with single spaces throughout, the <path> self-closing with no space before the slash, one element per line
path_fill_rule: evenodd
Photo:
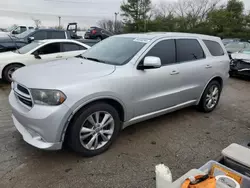
<path fill-rule="evenodd" d="M 205 57 L 200 43 L 196 39 L 177 39 L 177 62 L 193 61 Z"/>

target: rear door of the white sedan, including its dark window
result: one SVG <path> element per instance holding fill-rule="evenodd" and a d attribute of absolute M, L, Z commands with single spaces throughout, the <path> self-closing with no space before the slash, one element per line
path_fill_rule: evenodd
<path fill-rule="evenodd" d="M 75 57 L 84 53 L 87 50 L 86 47 L 73 42 L 62 42 L 61 49 L 63 52 L 62 53 L 63 58 Z"/>

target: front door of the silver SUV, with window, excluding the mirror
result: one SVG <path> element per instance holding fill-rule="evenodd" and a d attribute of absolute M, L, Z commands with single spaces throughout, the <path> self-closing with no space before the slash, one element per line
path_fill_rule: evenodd
<path fill-rule="evenodd" d="M 162 66 L 157 69 L 136 70 L 134 82 L 135 116 L 148 114 L 175 106 L 179 99 L 179 82 L 175 41 L 163 39 L 154 43 L 145 53 L 161 59 Z M 140 64 L 139 63 L 139 64 Z"/>

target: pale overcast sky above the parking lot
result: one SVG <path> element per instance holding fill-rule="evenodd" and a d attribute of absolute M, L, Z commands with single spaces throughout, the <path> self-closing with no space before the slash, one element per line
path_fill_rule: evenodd
<path fill-rule="evenodd" d="M 176 0 L 152 0 L 153 3 Z M 224 0 L 225 1 L 225 0 Z M 242 0 L 250 10 L 250 0 Z M 62 17 L 64 26 L 77 22 L 80 27 L 97 24 L 103 18 L 114 19 L 114 12 L 120 11 L 122 0 L 0 0 L 0 27 L 12 24 L 33 25 L 33 19 L 40 19 L 44 26 L 58 24 Z"/>

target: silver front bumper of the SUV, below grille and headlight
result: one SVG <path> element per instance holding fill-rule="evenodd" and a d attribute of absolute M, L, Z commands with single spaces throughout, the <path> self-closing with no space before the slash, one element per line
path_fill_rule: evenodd
<path fill-rule="evenodd" d="M 32 109 L 27 109 L 13 91 L 9 95 L 9 103 L 14 125 L 28 144 L 46 150 L 62 148 L 62 135 L 68 113 L 71 113 L 66 105 L 34 105 Z"/>

